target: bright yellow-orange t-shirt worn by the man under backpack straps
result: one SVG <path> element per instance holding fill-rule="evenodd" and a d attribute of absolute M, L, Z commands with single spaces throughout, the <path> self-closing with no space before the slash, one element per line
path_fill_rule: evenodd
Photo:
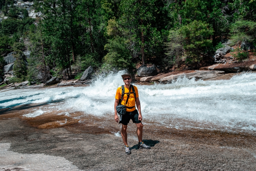
<path fill-rule="evenodd" d="M 134 87 L 134 90 L 135 90 L 135 93 L 136 93 L 136 97 L 139 97 L 138 88 L 134 85 L 133 85 L 133 87 Z M 125 105 L 128 94 L 129 94 L 129 89 L 124 87 L 124 97 L 123 97 L 123 101 L 121 102 L 121 104 L 124 105 L 124 106 L 127 106 L 127 107 L 133 107 L 134 106 L 134 108 L 131 108 L 131 109 L 126 108 L 127 112 L 132 112 L 133 110 L 135 110 L 135 98 L 134 98 L 134 94 L 132 93 L 132 88 L 131 88 L 131 93 L 130 93 L 130 97 L 128 99 L 128 102 Z M 122 86 L 117 88 L 115 98 L 117 100 L 119 100 L 119 99 L 121 99 L 121 96 L 122 96 Z"/>

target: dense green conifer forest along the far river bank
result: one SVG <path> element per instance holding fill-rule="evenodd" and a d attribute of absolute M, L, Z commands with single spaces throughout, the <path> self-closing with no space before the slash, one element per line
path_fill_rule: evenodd
<path fill-rule="evenodd" d="M 256 0 L 34 0 L 35 19 L 14 2 L 0 0 L 8 16 L 0 22 L 2 77 L 10 52 L 17 79 L 45 82 L 79 79 L 89 66 L 132 74 L 145 64 L 199 69 L 224 39 L 256 45 Z"/>

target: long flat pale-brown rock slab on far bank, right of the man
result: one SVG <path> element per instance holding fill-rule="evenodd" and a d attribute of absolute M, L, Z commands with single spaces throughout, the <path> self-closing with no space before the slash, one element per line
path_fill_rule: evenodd
<path fill-rule="evenodd" d="M 189 79 L 209 79 L 218 77 L 224 74 L 224 71 L 200 71 L 200 70 L 186 70 L 186 71 L 175 71 L 167 74 L 158 74 L 150 77 L 138 77 L 135 76 L 136 81 L 146 82 L 171 82 L 180 76 L 187 77 Z"/>

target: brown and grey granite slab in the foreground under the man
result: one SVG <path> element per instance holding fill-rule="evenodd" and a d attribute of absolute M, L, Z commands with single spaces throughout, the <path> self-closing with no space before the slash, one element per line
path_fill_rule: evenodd
<path fill-rule="evenodd" d="M 2 170 L 256 169 L 256 138 L 250 133 L 176 130 L 145 124 L 143 141 L 152 148 L 139 150 L 136 127 L 129 124 L 128 143 L 132 154 L 126 155 L 122 138 L 116 133 L 121 127 L 114 122 L 113 115 L 104 121 L 86 116 L 83 123 L 73 121 L 68 125 L 56 124 L 40 129 L 42 124 L 63 121 L 64 118 L 71 122 L 71 118 L 47 114 L 35 118 L 22 116 L 37 107 L 0 109 Z M 31 156 L 35 160 L 31 160 Z M 42 159 L 41 165 L 38 159 Z"/>

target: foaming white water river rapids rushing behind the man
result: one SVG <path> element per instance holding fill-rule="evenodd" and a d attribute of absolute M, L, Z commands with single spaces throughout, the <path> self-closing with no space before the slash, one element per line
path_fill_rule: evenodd
<path fill-rule="evenodd" d="M 122 73 L 99 77 L 87 87 L 0 91 L 0 109 L 47 103 L 50 105 L 24 116 L 44 115 L 54 108 L 60 113 L 64 110 L 65 115 L 81 111 L 84 115 L 109 117 L 111 114 L 114 118 L 115 93 L 123 84 Z M 171 84 L 136 86 L 144 124 L 177 129 L 256 131 L 256 73 L 242 73 L 230 80 L 178 78 Z"/>

